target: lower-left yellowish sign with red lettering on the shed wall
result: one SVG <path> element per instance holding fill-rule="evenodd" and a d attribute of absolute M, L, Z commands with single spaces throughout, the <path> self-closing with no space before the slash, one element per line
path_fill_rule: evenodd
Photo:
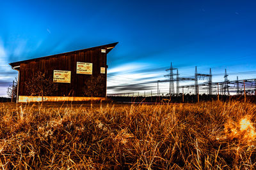
<path fill-rule="evenodd" d="M 54 70 L 53 82 L 54 83 L 70 83 L 71 71 Z"/>

